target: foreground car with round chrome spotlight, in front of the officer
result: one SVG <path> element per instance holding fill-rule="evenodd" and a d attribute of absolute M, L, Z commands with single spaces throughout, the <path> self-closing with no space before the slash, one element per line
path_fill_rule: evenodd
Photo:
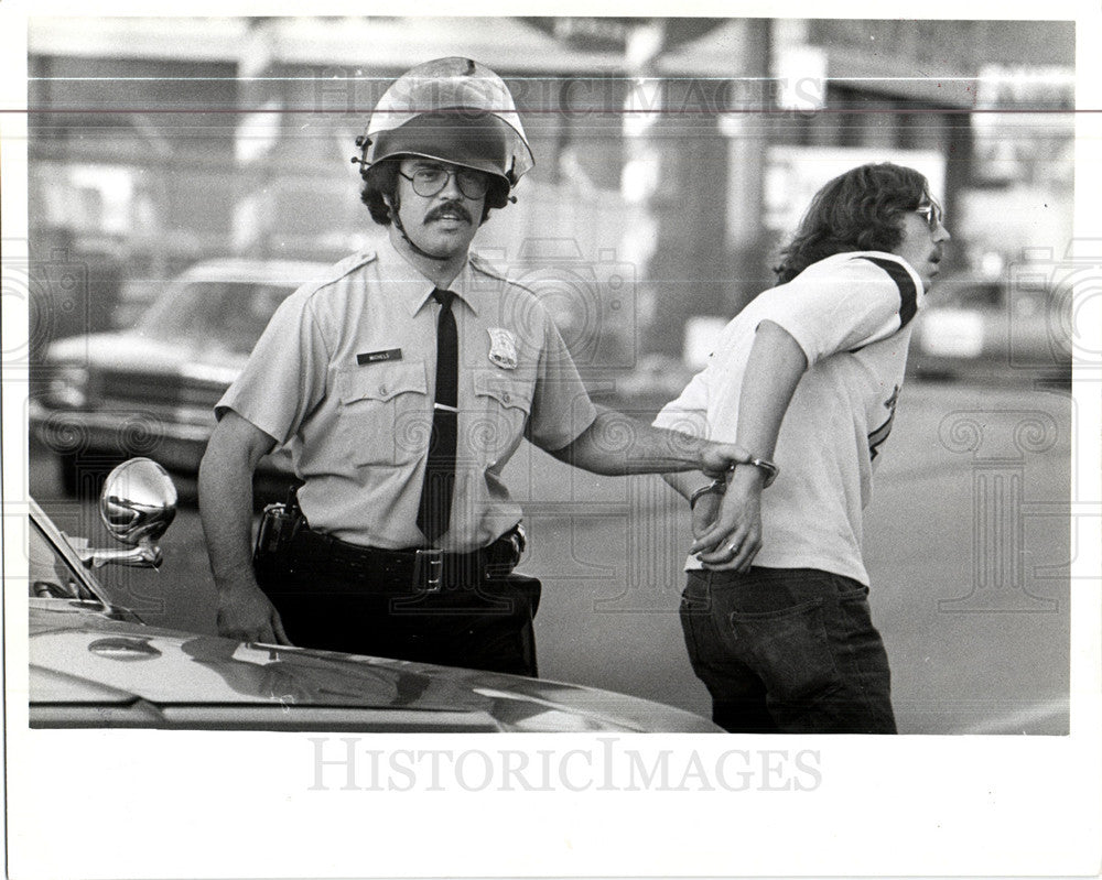
<path fill-rule="evenodd" d="M 721 732 L 682 709 L 580 685 L 148 627 L 93 575 L 155 567 L 175 489 L 150 459 L 108 475 L 96 550 L 30 504 L 30 724 L 35 728 Z"/>

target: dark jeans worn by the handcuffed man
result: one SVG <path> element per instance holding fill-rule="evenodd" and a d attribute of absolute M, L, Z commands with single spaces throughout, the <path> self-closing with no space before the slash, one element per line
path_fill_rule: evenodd
<path fill-rule="evenodd" d="M 690 572 L 681 626 L 732 732 L 895 734 L 868 587 L 812 568 Z"/>

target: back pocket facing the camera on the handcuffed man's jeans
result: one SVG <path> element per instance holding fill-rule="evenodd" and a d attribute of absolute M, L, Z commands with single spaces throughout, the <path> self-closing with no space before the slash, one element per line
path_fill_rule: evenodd
<path fill-rule="evenodd" d="M 823 600 L 774 611 L 732 611 L 730 635 L 770 698 L 803 699 L 842 683 L 823 624 Z"/>

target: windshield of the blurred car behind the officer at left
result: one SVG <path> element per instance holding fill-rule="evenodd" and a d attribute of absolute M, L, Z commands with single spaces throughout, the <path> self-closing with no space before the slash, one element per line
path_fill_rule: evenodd
<path fill-rule="evenodd" d="M 182 284 L 158 301 L 140 329 L 154 339 L 197 341 L 247 355 L 295 286 L 249 281 Z"/>

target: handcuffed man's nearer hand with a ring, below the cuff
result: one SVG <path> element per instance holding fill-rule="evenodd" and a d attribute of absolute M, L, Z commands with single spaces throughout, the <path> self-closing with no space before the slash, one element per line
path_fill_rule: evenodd
<path fill-rule="evenodd" d="M 696 541 L 689 548 L 690 553 L 699 556 L 705 568 L 717 572 L 749 571 L 754 557 L 761 548 L 763 482 L 764 475 L 758 468 L 735 469 L 726 495 L 720 501 L 714 522 L 702 534 L 696 535 Z M 700 502 L 696 507 L 700 507 Z M 694 534 L 695 524 L 694 515 Z"/>

